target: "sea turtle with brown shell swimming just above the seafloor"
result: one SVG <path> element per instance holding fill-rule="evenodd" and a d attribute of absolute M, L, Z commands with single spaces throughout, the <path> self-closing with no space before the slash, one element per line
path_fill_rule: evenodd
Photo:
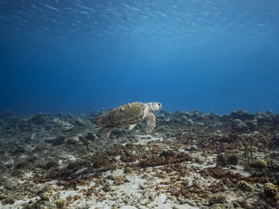
<path fill-rule="evenodd" d="M 93 124 L 102 125 L 99 131 L 101 139 L 107 139 L 113 128 L 120 125 L 129 125 L 132 130 L 137 123 L 146 120 L 146 134 L 150 134 L 155 127 L 156 118 L 153 112 L 162 108 L 158 102 L 132 102 L 116 107 L 106 114 L 98 116 Z"/>

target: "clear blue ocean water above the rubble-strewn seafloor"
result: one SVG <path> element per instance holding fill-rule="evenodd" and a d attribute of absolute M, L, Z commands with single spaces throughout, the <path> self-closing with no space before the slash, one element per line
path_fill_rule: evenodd
<path fill-rule="evenodd" d="M 279 113 L 279 1 L 0 1 L 0 111 Z"/>

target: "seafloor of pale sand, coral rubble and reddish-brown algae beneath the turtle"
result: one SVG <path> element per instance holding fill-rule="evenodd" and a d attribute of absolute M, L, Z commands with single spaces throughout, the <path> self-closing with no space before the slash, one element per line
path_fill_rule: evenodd
<path fill-rule="evenodd" d="M 0 114 L 0 208 L 279 208 L 279 114 L 161 110 L 102 141 L 104 112 Z"/>

